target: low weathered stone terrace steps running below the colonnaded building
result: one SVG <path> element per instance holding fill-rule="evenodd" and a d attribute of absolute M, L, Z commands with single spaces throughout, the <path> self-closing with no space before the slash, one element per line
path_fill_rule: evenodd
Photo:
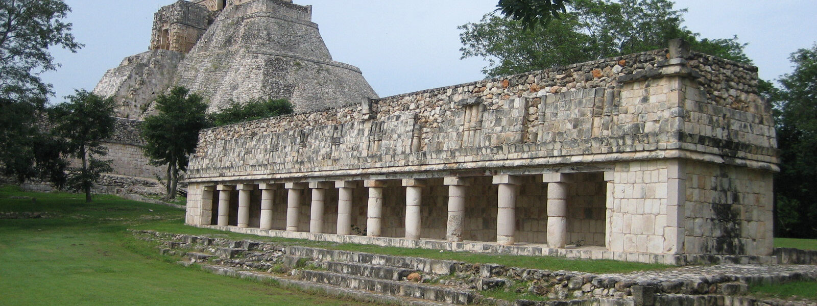
<path fill-rule="evenodd" d="M 795 265 L 690 266 L 664 271 L 592 274 L 467 264 L 454 260 L 326 250 L 275 242 L 135 231 L 158 242 L 162 254 L 211 273 L 274 282 L 310 292 L 406 306 L 652 306 L 810 305 L 746 296 L 748 286 L 817 280 L 817 267 Z M 480 290 L 522 288 L 548 300 L 503 300 Z"/>

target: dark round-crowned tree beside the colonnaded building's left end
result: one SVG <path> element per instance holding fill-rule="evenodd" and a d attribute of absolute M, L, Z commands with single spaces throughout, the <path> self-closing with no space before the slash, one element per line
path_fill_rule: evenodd
<path fill-rule="evenodd" d="M 189 155 L 199 142 L 199 130 L 207 126 L 207 104 L 185 87 L 172 88 L 156 98 L 158 115 L 145 118 L 142 137 L 145 156 L 156 166 L 167 165 L 167 199 L 176 198 L 179 172 L 187 170 Z"/>

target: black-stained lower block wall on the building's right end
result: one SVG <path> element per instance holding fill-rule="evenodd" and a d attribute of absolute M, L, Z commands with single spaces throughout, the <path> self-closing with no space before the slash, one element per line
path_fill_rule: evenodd
<path fill-rule="evenodd" d="M 771 255 L 772 174 L 685 162 L 687 253 Z"/>

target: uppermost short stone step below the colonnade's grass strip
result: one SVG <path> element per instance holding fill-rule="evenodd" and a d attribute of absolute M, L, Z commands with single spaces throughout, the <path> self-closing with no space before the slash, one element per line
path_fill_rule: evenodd
<path fill-rule="evenodd" d="M 354 251 L 325 250 L 306 246 L 288 246 L 284 253 L 293 256 L 311 257 L 324 261 L 353 262 L 359 264 L 377 264 L 395 268 L 408 268 L 424 273 L 449 275 L 457 272 L 462 262 L 454 260 L 426 259 L 419 257 L 379 255 Z"/>

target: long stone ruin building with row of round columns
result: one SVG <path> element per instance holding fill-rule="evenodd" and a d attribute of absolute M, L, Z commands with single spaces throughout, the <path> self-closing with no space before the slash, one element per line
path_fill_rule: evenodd
<path fill-rule="evenodd" d="M 667 49 L 202 131 L 186 224 L 449 251 L 768 263 L 757 68 Z"/>

